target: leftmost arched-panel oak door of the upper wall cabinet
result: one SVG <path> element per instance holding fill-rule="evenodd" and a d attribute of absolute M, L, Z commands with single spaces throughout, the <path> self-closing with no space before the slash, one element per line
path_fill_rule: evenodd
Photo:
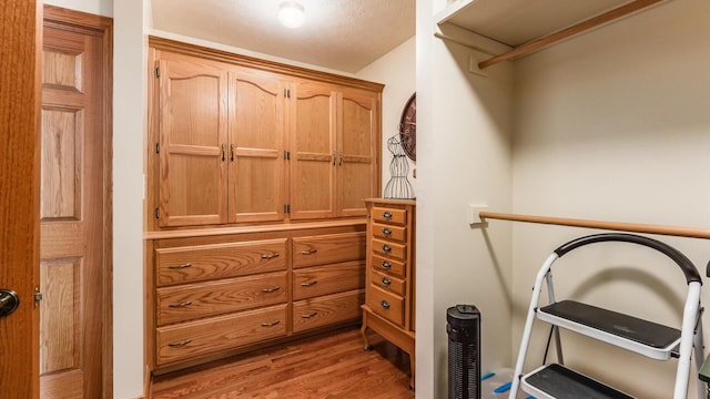
<path fill-rule="evenodd" d="M 226 222 L 226 70 L 159 57 L 159 207 L 161 226 Z"/>

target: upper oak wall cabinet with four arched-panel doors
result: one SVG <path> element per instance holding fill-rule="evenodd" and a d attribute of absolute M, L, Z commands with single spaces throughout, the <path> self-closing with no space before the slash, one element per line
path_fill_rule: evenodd
<path fill-rule="evenodd" d="M 150 229 L 365 216 L 381 84 L 164 39 L 150 54 Z"/>

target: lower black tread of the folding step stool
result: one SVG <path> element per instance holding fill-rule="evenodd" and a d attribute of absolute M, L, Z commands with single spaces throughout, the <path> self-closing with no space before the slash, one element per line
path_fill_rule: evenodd
<path fill-rule="evenodd" d="M 557 364 L 544 366 L 525 376 L 524 390 L 526 386 L 558 399 L 633 399 L 631 396 Z M 526 391 L 539 395 L 539 392 Z"/>

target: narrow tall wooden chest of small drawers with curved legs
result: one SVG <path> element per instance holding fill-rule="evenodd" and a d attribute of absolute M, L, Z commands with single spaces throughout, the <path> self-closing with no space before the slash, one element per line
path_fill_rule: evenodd
<path fill-rule="evenodd" d="M 372 329 L 409 355 L 414 389 L 416 203 L 369 198 L 363 339 Z"/>

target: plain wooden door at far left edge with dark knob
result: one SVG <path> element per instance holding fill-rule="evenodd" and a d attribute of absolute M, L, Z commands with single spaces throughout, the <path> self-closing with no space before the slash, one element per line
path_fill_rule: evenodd
<path fill-rule="evenodd" d="M 39 65 L 41 1 L 0 7 L 0 288 L 18 309 L 0 317 L 0 397 L 39 397 Z"/>

